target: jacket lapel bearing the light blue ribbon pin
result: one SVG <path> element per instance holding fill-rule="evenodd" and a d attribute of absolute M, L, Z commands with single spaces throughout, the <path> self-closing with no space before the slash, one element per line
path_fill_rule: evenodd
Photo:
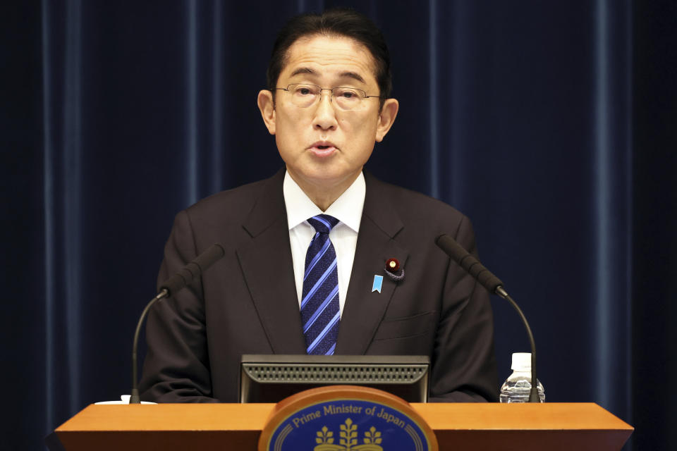
<path fill-rule="evenodd" d="M 365 173 L 367 194 L 362 211 L 353 273 L 338 326 L 336 354 L 364 354 L 381 323 L 397 283 L 385 273 L 387 259 L 405 264 L 408 250 L 394 240 L 403 228 L 384 183 Z M 383 276 L 382 290 L 372 292 L 374 276 Z"/>

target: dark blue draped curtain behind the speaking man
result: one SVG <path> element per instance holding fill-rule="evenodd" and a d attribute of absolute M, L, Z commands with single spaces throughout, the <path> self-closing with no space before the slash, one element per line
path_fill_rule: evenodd
<path fill-rule="evenodd" d="M 338 3 L 338 2 L 336 2 Z M 261 121 L 283 20 L 334 1 L 14 1 L 2 26 L 1 449 L 130 390 L 174 214 L 281 166 Z M 531 321 L 551 402 L 677 440 L 673 1 L 353 1 L 401 111 L 368 164 L 453 204 Z M 494 299 L 501 379 L 527 351 Z"/>

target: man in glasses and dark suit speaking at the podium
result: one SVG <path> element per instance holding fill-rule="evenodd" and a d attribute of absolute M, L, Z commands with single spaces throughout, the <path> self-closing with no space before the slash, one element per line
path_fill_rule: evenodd
<path fill-rule="evenodd" d="M 397 115 L 389 64 L 352 11 L 281 31 L 258 105 L 286 168 L 176 216 L 160 280 L 226 255 L 150 312 L 143 399 L 234 402 L 241 354 L 309 353 L 424 354 L 432 399 L 497 400 L 489 296 L 434 244 L 475 252 L 470 221 L 362 172 Z"/>

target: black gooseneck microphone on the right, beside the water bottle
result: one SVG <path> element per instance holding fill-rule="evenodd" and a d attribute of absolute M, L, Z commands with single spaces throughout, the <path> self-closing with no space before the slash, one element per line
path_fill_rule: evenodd
<path fill-rule="evenodd" d="M 504 290 L 501 279 L 494 276 L 487 268 L 484 268 L 484 265 L 479 260 L 463 249 L 463 246 L 459 245 L 452 237 L 449 235 L 439 235 L 435 239 L 435 244 L 449 255 L 453 261 L 456 261 L 458 266 L 461 266 L 470 276 L 475 278 L 480 285 L 487 288 L 490 293 L 506 299 L 517 310 L 527 329 L 527 335 L 529 335 L 529 342 L 531 344 L 531 391 L 529 393 L 529 402 L 540 402 L 536 379 L 536 342 L 534 341 L 534 335 L 531 333 L 529 322 L 522 313 L 522 309 L 518 307 L 513 298 Z"/>

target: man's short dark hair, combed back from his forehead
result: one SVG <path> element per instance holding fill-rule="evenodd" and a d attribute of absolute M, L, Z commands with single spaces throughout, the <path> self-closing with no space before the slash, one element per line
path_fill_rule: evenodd
<path fill-rule="evenodd" d="M 390 97 L 393 87 L 390 73 L 390 54 L 386 40 L 381 30 L 367 16 L 348 8 L 329 9 L 322 14 L 301 14 L 288 20 L 277 35 L 273 53 L 268 62 L 268 89 L 275 92 L 277 79 L 286 64 L 289 47 L 302 37 L 315 35 L 349 37 L 369 49 L 374 58 L 376 81 L 379 85 L 379 96 L 383 105 L 384 99 Z"/>

